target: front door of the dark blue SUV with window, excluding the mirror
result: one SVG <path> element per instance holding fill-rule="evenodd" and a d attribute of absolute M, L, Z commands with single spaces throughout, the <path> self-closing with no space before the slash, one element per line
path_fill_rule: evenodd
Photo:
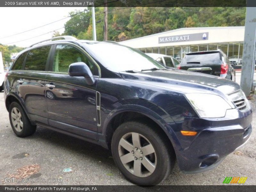
<path fill-rule="evenodd" d="M 96 139 L 98 68 L 85 53 L 68 44 L 56 45 L 52 60 L 45 81 L 49 125 Z M 84 62 L 91 68 L 95 84 L 88 85 L 84 77 L 68 75 L 69 65 L 75 62 Z"/>

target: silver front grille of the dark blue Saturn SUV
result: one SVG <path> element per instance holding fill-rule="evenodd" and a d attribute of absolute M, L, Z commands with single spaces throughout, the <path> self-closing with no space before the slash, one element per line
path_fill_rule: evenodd
<path fill-rule="evenodd" d="M 240 111 L 246 111 L 250 108 L 250 104 L 242 90 L 231 93 L 229 97 Z"/>

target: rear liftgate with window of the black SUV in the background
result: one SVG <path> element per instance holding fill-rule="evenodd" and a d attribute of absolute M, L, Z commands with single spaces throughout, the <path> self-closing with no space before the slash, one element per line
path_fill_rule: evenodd
<path fill-rule="evenodd" d="M 180 63 L 180 69 L 220 76 L 220 52 L 198 52 L 186 54 Z"/>

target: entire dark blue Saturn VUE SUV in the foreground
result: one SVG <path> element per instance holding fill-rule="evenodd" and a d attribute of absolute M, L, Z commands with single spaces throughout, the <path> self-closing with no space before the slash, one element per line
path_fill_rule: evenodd
<path fill-rule="evenodd" d="M 183 172 L 209 170 L 248 141 L 252 110 L 235 82 L 112 42 L 58 38 L 20 52 L 5 77 L 18 137 L 39 125 L 96 143 L 139 185 L 163 181 L 175 161 Z"/>

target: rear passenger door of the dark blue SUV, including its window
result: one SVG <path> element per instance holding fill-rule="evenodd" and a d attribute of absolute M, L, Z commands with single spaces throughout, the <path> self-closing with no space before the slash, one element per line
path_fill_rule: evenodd
<path fill-rule="evenodd" d="M 44 79 L 51 49 L 52 46 L 47 45 L 30 50 L 16 81 L 18 92 L 24 100 L 31 120 L 44 124 L 48 124 Z"/>

